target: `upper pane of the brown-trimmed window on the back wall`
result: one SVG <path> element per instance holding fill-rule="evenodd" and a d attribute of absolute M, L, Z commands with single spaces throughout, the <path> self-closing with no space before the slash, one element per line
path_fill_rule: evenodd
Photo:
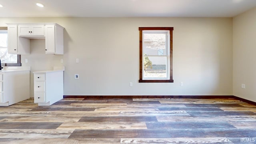
<path fill-rule="evenodd" d="M 144 55 L 166 55 L 166 34 L 144 34 Z"/>

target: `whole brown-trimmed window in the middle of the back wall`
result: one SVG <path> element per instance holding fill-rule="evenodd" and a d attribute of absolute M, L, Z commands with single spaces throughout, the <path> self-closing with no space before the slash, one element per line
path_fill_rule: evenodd
<path fill-rule="evenodd" d="M 139 82 L 173 82 L 172 31 L 173 27 L 139 27 L 140 80 Z"/>

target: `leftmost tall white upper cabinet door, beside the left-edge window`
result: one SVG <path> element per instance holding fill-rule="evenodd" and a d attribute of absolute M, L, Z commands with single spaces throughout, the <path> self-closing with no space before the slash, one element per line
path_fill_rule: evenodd
<path fill-rule="evenodd" d="M 8 26 L 8 53 L 18 53 L 18 34 L 17 25 Z"/>

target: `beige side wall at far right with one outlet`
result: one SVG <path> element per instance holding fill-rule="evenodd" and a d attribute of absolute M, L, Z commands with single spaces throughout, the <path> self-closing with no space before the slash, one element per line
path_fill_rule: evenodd
<path fill-rule="evenodd" d="M 256 8 L 233 18 L 233 81 L 234 96 L 256 102 Z"/>

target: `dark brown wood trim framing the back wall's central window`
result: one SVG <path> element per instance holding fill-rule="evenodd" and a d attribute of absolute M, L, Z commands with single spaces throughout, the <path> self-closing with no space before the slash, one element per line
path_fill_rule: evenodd
<path fill-rule="evenodd" d="M 170 31 L 170 79 L 169 80 L 142 80 L 142 31 L 143 30 L 169 30 Z M 139 27 L 140 31 L 140 80 L 139 82 L 174 82 L 172 78 L 172 31 L 173 27 Z"/>

